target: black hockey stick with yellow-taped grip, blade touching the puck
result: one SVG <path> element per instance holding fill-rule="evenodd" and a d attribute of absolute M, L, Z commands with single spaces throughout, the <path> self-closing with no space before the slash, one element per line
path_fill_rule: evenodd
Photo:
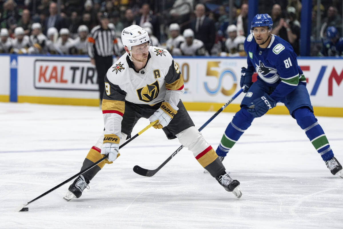
<path fill-rule="evenodd" d="M 132 141 L 133 139 L 137 138 L 137 137 L 138 137 L 139 135 L 141 135 L 145 130 L 147 130 L 147 129 L 149 129 L 150 127 L 152 127 L 156 122 L 158 122 L 158 120 L 156 120 L 155 122 L 152 122 L 152 123 L 150 123 L 149 125 L 147 125 L 144 129 L 142 129 L 141 131 L 139 131 L 136 135 L 134 135 L 132 138 L 130 138 L 129 140 L 127 140 L 126 142 L 124 142 L 121 146 L 119 146 L 119 149 L 121 149 L 122 147 L 124 147 L 125 145 L 127 145 L 127 144 L 128 144 L 130 141 Z M 71 178 L 69 178 L 69 179 L 63 181 L 63 182 L 60 183 L 59 185 L 56 185 L 55 187 L 51 188 L 49 191 L 46 191 L 46 192 L 43 193 L 42 195 L 40 195 L 40 196 L 34 198 L 32 201 L 29 201 L 29 202 L 27 202 L 26 204 L 21 204 L 19 207 L 17 207 L 17 208 L 15 209 L 15 211 L 22 211 L 22 210 L 28 211 L 28 208 L 23 209 L 26 205 L 28 205 L 28 204 L 30 204 L 30 203 L 36 201 L 37 199 L 39 199 L 39 198 L 45 196 L 45 195 L 48 194 L 48 193 L 54 191 L 55 189 L 61 187 L 63 184 L 68 183 L 69 181 L 73 180 L 76 176 L 79 176 L 79 175 L 81 175 L 81 174 L 87 172 L 88 170 L 92 169 L 95 165 L 99 164 L 100 162 L 102 162 L 102 161 L 105 160 L 106 158 L 108 158 L 108 155 L 106 155 L 106 156 L 103 157 L 102 159 L 100 159 L 100 160 L 94 162 L 94 164 L 90 165 L 89 167 L 87 167 L 86 169 L 82 170 L 81 172 L 76 173 L 76 174 L 73 175 Z"/>

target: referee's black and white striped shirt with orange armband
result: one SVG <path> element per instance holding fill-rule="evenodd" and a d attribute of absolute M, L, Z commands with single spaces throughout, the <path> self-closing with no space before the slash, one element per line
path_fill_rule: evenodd
<path fill-rule="evenodd" d="M 100 25 L 95 26 L 87 39 L 88 56 L 112 56 L 117 44 L 115 28 L 104 30 Z"/>

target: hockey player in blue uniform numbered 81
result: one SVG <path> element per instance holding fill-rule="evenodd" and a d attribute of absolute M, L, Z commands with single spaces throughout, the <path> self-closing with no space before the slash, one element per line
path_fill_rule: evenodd
<path fill-rule="evenodd" d="M 329 141 L 313 114 L 297 55 L 288 42 L 271 34 L 272 26 L 273 21 L 268 14 L 257 14 L 251 22 L 251 34 L 244 43 L 248 68 L 242 68 L 240 79 L 246 95 L 240 104 L 241 109 L 228 124 L 216 153 L 223 160 L 254 118 L 263 116 L 277 102 L 282 102 L 331 173 L 343 178 L 342 166 L 334 157 Z M 258 77 L 252 83 L 255 71 Z"/>

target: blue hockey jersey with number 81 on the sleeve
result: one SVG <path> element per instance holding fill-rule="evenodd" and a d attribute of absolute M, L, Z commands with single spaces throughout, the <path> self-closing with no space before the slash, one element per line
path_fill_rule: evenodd
<path fill-rule="evenodd" d="M 292 92 L 298 83 L 306 85 L 297 55 L 284 39 L 272 34 L 268 47 L 260 48 L 250 34 L 244 42 L 244 50 L 248 55 L 248 68 L 257 72 L 258 79 L 275 88 L 270 95 L 275 101 Z"/>

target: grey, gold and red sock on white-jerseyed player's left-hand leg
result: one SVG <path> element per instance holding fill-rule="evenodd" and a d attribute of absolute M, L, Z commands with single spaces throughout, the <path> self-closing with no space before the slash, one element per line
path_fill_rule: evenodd
<path fill-rule="evenodd" d="M 102 154 L 100 154 L 100 149 L 93 146 L 90 151 L 88 152 L 85 160 L 83 161 L 81 170 L 84 170 L 85 168 L 89 167 L 90 165 L 94 164 L 94 162 L 100 160 L 102 157 Z M 99 164 L 95 165 L 92 169 L 88 170 L 87 172 L 83 173 L 82 175 L 84 178 L 88 180 L 92 180 L 93 177 L 104 167 L 106 164 L 105 160 L 100 162 Z"/>

